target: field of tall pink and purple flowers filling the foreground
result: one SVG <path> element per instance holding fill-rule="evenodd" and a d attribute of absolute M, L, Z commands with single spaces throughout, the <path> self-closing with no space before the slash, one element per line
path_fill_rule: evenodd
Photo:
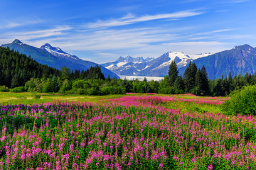
<path fill-rule="evenodd" d="M 0 169 L 256 169 L 256 118 L 161 106 L 174 100 L 221 104 L 127 96 L 0 105 Z"/>

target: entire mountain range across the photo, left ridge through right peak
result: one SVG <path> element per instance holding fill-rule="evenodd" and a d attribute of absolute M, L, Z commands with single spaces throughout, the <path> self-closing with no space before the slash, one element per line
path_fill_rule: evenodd
<path fill-rule="evenodd" d="M 63 66 L 75 69 L 89 69 L 96 66 L 95 62 L 81 60 L 75 55 L 64 52 L 59 47 L 53 47 L 46 43 L 40 48 L 27 45 L 20 40 L 14 40 L 10 44 L 1 45 L 18 50 L 41 64 L 60 69 Z M 228 77 L 229 72 L 233 76 L 246 73 L 254 74 L 256 71 L 256 49 L 250 45 L 235 46 L 233 49 L 217 52 L 215 54 L 203 53 L 188 55 L 183 52 L 166 52 L 160 57 L 119 57 L 114 62 L 101 64 L 105 77 L 119 78 L 119 76 L 137 77 L 165 77 L 168 74 L 171 61 L 175 61 L 179 74 L 183 75 L 189 62 L 195 63 L 198 68 L 206 67 L 210 79 Z"/>

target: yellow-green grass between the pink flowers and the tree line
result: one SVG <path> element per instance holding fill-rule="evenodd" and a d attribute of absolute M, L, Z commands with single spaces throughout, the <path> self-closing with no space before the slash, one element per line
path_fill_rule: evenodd
<path fill-rule="evenodd" d="M 81 101 L 81 102 L 89 102 L 89 103 L 99 103 L 102 100 L 107 98 L 121 98 L 122 96 L 170 96 L 174 98 L 182 98 L 188 100 L 195 101 L 223 101 L 226 98 L 218 97 L 201 97 L 194 95 L 162 95 L 162 94 L 126 94 L 126 95 L 108 95 L 108 96 L 81 96 L 81 95 L 59 95 L 59 94 L 43 94 L 41 98 L 33 98 L 32 93 L 24 92 L 24 93 L 10 93 L 10 92 L 0 92 L 0 103 L 1 104 L 28 104 L 31 105 L 33 103 L 41 104 L 41 103 L 50 103 L 56 101 Z M 186 102 L 186 105 L 183 104 L 182 101 L 169 101 L 166 103 L 161 103 L 162 106 L 166 108 L 174 108 L 181 109 L 181 111 L 200 111 L 200 112 L 213 112 L 213 113 L 221 113 L 221 107 L 219 105 L 205 105 L 201 103 Z"/>

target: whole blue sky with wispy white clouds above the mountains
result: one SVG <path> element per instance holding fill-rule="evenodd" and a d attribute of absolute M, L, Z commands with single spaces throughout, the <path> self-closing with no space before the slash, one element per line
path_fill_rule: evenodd
<path fill-rule="evenodd" d="M 1 0 L 0 43 L 50 43 L 84 60 L 256 46 L 255 0 Z"/>

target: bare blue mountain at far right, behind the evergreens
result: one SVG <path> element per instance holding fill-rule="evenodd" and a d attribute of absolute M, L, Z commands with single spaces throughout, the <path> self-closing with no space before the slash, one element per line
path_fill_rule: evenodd
<path fill-rule="evenodd" d="M 193 61 L 198 68 L 206 67 L 210 79 L 220 79 L 228 77 L 229 72 L 233 76 L 246 72 L 254 74 L 256 71 L 256 49 L 250 45 L 235 46 L 231 50 L 202 57 Z M 186 67 L 179 69 L 179 74 L 185 72 Z"/>

